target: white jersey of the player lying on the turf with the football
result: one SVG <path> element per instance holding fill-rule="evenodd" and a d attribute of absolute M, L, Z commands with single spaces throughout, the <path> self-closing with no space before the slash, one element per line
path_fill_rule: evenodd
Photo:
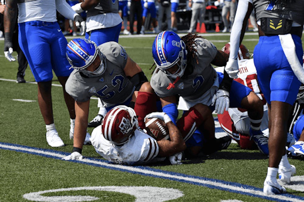
<path fill-rule="evenodd" d="M 116 146 L 106 140 L 101 133 L 101 126 L 93 130 L 90 140 L 96 152 L 113 163 L 134 165 L 164 160 L 156 158 L 159 149 L 156 140 L 140 129 L 136 129 L 123 146 Z"/>

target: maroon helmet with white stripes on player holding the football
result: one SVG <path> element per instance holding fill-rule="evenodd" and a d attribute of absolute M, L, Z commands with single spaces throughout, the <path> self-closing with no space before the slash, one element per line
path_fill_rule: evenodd
<path fill-rule="evenodd" d="M 129 140 L 137 127 L 135 111 L 131 107 L 119 105 L 105 115 L 101 131 L 106 140 L 120 146 Z"/>

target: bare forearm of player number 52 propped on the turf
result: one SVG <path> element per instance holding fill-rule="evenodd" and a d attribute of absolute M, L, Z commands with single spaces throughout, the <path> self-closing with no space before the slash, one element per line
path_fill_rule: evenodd
<path fill-rule="evenodd" d="M 74 147 L 82 149 L 88 127 L 90 100 L 86 102 L 75 101 L 75 128 L 74 128 Z"/>

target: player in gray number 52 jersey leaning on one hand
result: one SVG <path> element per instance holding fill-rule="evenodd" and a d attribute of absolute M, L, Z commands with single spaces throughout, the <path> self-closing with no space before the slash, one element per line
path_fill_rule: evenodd
<path fill-rule="evenodd" d="M 73 39 L 67 44 L 66 55 L 74 68 L 65 86 L 67 93 L 75 99 L 73 152 L 81 153 L 92 96 L 100 98 L 110 110 L 116 105 L 129 106 L 131 100 L 136 99 L 134 91 L 139 90 L 134 109 L 140 127 L 144 127 L 144 117 L 156 111 L 156 96 L 141 68 L 122 46 L 116 42 L 97 46 L 87 39 Z"/>

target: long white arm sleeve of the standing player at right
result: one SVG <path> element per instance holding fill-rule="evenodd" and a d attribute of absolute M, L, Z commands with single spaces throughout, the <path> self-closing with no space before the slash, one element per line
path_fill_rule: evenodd
<path fill-rule="evenodd" d="M 230 59 L 237 59 L 239 51 L 241 30 L 243 27 L 243 21 L 248 10 L 248 3 L 252 3 L 252 0 L 239 0 L 237 5 L 237 12 L 234 17 L 231 34 L 230 34 Z"/>

